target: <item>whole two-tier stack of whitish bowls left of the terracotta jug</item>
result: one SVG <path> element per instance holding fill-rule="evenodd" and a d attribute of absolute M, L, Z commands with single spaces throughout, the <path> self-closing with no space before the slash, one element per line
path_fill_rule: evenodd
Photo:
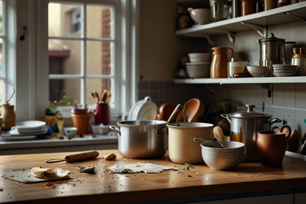
<path fill-rule="evenodd" d="M 189 53 L 190 62 L 186 63 L 186 70 L 190 78 L 209 78 L 211 54 Z"/>

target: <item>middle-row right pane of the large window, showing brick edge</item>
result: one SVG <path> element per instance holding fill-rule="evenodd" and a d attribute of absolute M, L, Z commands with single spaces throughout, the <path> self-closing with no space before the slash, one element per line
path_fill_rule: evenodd
<path fill-rule="evenodd" d="M 111 42 L 86 42 L 86 74 L 111 74 Z"/>

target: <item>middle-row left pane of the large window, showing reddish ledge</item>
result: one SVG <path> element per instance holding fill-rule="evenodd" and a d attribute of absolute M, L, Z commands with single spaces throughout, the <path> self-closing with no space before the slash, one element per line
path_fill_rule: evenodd
<path fill-rule="evenodd" d="M 49 40 L 49 74 L 81 73 L 81 41 Z"/>

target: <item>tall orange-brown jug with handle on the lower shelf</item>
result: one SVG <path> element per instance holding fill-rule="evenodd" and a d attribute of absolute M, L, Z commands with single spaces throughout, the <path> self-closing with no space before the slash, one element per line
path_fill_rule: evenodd
<path fill-rule="evenodd" d="M 233 57 L 234 51 L 230 47 L 213 47 L 214 52 L 211 62 L 211 78 L 227 78 L 227 63 L 229 59 L 227 57 L 227 51 L 230 50 L 230 58 Z"/>

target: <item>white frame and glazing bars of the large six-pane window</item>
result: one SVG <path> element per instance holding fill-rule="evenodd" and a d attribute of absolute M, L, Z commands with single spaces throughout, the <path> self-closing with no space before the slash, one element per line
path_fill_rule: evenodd
<path fill-rule="evenodd" d="M 125 0 L 124 0 L 125 1 Z M 74 37 L 55 37 L 55 36 L 49 36 L 48 37 L 48 3 L 49 2 L 54 2 L 54 3 L 80 3 L 82 4 L 82 14 L 81 14 L 81 18 L 83 19 L 83 24 L 82 24 L 82 35 L 80 38 L 74 38 Z M 124 102 L 125 103 L 125 99 L 127 99 L 128 101 L 131 100 L 130 96 L 127 94 L 123 94 L 122 93 L 122 83 L 125 83 L 124 86 L 126 86 L 126 83 L 131 83 L 131 80 L 122 80 L 122 73 L 128 71 L 130 69 L 130 65 L 129 66 L 124 66 L 121 63 L 122 62 L 122 54 L 126 53 L 126 47 L 122 47 L 122 39 L 123 39 L 123 33 L 125 32 L 121 32 L 122 28 L 124 28 L 122 26 L 121 23 L 121 4 L 122 1 L 120 0 L 58 0 L 58 1 L 49 1 L 49 0 L 39 0 L 37 1 L 37 10 L 38 10 L 38 22 L 37 22 L 37 28 L 39 28 L 38 30 L 38 42 L 37 42 L 37 50 L 40 50 L 39 52 L 37 52 L 37 73 L 38 76 L 44 76 L 44 77 L 38 77 L 37 78 L 37 82 L 38 84 L 42 84 L 42 86 L 39 88 L 40 90 L 38 91 L 38 94 L 41 95 L 40 98 L 44 98 L 43 101 L 45 101 L 44 105 L 41 104 L 40 105 L 40 114 L 37 113 L 36 111 L 36 115 L 41 115 L 43 112 L 43 109 L 45 109 L 47 107 L 47 102 L 49 101 L 49 94 L 48 91 L 49 90 L 49 79 L 80 79 L 81 80 L 81 104 L 84 106 L 85 105 L 85 96 L 86 96 L 86 79 L 112 79 L 115 81 L 115 83 L 111 84 L 111 92 L 114 93 L 114 107 L 115 108 L 111 108 L 111 115 L 118 117 L 118 115 L 120 114 L 124 114 L 126 111 L 125 107 L 122 107 L 122 96 L 124 96 Z M 113 15 L 115 20 L 114 22 L 114 31 L 112 30 L 112 32 L 114 33 L 114 38 L 110 38 L 110 39 L 102 39 L 102 38 L 89 38 L 89 37 L 84 37 L 86 36 L 86 30 L 84 28 L 86 28 L 86 7 L 85 5 L 99 5 L 99 6 L 108 6 L 108 7 L 113 7 L 115 10 L 115 14 Z M 124 37 L 125 38 L 125 37 Z M 115 62 L 115 65 L 111 66 L 112 73 L 113 75 L 86 75 L 86 58 L 84 57 L 85 55 L 81 54 L 81 74 L 80 75 L 67 75 L 67 74 L 59 74 L 59 75 L 49 75 L 49 69 L 46 69 L 49 67 L 49 58 L 48 58 L 48 39 L 75 39 L 75 40 L 82 40 L 82 44 L 81 44 L 81 50 L 86 50 L 86 39 L 89 40 L 97 40 L 102 42 L 103 40 L 105 41 L 110 41 L 113 42 L 115 44 L 114 49 L 112 49 L 111 53 L 111 57 L 115 57 L 115 59 L 113 60 L 113 62 Z M 116 40 L 116 42 L 115 42 Z M 125 39 L 124 39 L 125 40 Z M 114 50 L 116 50 L 116 54 L 114 54 Z M 118 50 L 118 51 L 117 51 Z M 120 50 L 122 50 L 120 52 Z M 115 69 L 114 69 L 115 67 Z M 46 78 L 47 75 L 47 78 Z M 126 75 L 125 75 L 126 77 Z M 47 82 L 47 83 L 46 83 Z M 119 82 L 119 83 L 118 83 Z M 126 90 L 124 90 L 126 91 Z M 42 93 L 44 92 L 44 93 Z M 130 102 L 128 102 L 127 104 L 125 104 L 124 106 L 128 105 L 129 106 Z M 93 106 L 88 106 L 89 108 L 95 108 L 95 105 Z M 70 117 L 70 111 L 72 109 L 72 106 L 70 107 L 58 107 L 59 110 L 62 111 L 64 117 Z"/>

